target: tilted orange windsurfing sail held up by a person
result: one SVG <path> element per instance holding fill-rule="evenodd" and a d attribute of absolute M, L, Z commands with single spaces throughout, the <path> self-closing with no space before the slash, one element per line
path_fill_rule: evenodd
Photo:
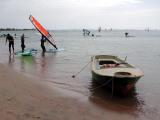
<path fill-rule="evenodd" d="M 29 20 L 35 26 L 35 28 L 47 38 L 48 42 L 57 49 L 55 41 L 49 32 L 32 15 L 29 16 Z"/>

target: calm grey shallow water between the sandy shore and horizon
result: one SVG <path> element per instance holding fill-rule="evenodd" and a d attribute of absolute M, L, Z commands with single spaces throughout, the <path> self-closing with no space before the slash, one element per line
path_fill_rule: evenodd
<path fill-rule="evenodd" d="M 92 31 L 95 37 L 84 37 L 82 31 L 51 31 L 57 46 L 64 51 L 41 54 L 40 38 L 37 31 L 8 31 L 11 34 L 24 33 L 26 47 L 38 49 L 33 57 L 9 56 L 5 39 L 0 38 L 0 62 L 8 64 L 20 73 L 36 77 L 50 85 L 78 93 L 88 97 L 88 102 L 117 116 L 127 115 L 130 119 L 160 119 L 160 31 L 130 30 L 126 31 Z M 0 34 L 8 33 L 1 31 Z M 46 48 L 52 48 L 46 44 Z M 15 38 L 15 49 L 20 50 L 20 38 Z M 144 76 L 136 84 L 135 91 L 128 97 L 113 96 L 105 88 L 98 88 L 91 82 L 90 66 L 88 65 L 76 78 L 78 73 L 96 54 L 113 54 L 135 65 L 144 72 Z M 83 98 L 82 98 L 83 99 Z"/>

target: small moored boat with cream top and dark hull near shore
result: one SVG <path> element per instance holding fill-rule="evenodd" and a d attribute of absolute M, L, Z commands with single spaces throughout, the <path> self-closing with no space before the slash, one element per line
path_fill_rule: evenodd
<path fill-rule="evenodd" d="M 127 95 L 133 90 L 143 72 L 113 55 L 96 55 L 91 58 L 93 81 Z"/>

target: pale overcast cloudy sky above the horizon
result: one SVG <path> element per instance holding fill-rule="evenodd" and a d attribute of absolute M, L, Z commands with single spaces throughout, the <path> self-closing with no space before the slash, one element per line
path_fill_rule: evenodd
<path fill-rule="evenodd" d="M 160 29 L 160 0 L 0 0 L 0 28 Z"/>

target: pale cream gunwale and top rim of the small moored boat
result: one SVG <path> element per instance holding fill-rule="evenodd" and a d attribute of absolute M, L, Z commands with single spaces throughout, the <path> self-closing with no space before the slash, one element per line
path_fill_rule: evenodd
<path fill-rule="evenodd" d="M 114 67 L 114 68 L 100 68 L 100 65 L 98 64 L 99 60 L 113 60 L 115 62 L 120 61 L 121 63 L 125 63 L 125 67 Z M 98 68 L 98 67 L 99 68 Z M 97 56 L 93 56 L 92 57 L 92 71 L 95 72 L 96 74 L 99 74 L 101 76 L 110 76 L 110 77 L 115 77 L 117 72 L 128 72 L 131 75 L 130 76 L 123 76 L 122 78 L 134 78 L 134 77 L 141 77 L 143 76 L 143 72 L 137 68 L 135 68 L 134 66 L 126 63 L 124 60 L 121 60 L 120 58 L 118 58 L 117 56 L 113 56 L 113 55 L 97 55 Z M 109 72 L 112 72 L 109 73 Z M 106 74 L 109 73 L 109 74 Z M 118 77 L 118 76 L 117 76 Z M 120 77 L 120 76 L 119 76 Z"/>

